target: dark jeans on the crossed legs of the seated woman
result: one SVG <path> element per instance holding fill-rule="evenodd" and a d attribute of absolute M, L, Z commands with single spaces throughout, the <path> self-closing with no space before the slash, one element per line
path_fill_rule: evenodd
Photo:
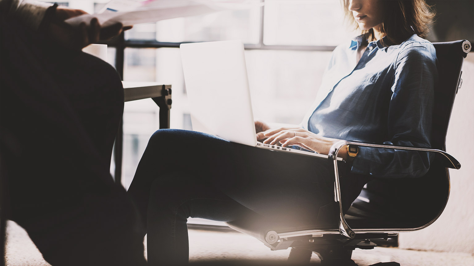
<path fill-rule="evenodd" d="M 169 129 L 151 137 L 128 194 L 147 222 L 148 263 L 173 265 L 188 260 L 188 217 L 230 222 L 257 214 L 314 223 L 319 208 L 334 201 L 333 180 L 327 159 Z M 350 204 L 366 180 L 344 181 Z"/>

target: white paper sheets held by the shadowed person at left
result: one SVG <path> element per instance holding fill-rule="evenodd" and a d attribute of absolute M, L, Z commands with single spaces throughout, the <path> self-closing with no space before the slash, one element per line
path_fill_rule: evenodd
<path fill-rule="evenodd" d="M 128 5 L 127 2 L 130 4 Z M 117 22 L 121 22 L 124 26 L 131 26 L 222 10 L 258 8 L 262 5 L 263 3 L 255 0 L 147 0 L 143 2 L 118 0 L 111 1 L 101 14 L 85 14 L 66 19 L 65 22 L 78 27 L 82 22 L 88 25 L 92 18 L 97 18 L 102 27 L 108 27 Z"/>

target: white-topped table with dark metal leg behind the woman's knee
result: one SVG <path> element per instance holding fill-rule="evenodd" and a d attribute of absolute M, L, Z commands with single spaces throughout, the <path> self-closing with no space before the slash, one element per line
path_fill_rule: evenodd
<path fill-rule="evenodd" d="M 151 98 L 160 107 L 160 129 L 170 128 L 171 85 L 158 82 L 122 81 L 125 102 Z M 122 182 L 123 120 L 118 126 L 114 146 L 115 183 Z"/>

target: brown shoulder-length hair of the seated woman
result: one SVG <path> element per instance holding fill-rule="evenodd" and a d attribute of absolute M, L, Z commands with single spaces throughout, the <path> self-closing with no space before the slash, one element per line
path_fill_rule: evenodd
<path fill-rule="evenodd" d="M 424 38 L 434 23 L 436 11 L 425 0 L 379 0 L 383 5 L 383 22 L 380 31 L 393 44 L 401 44 L 413 34 Z M 349 0 L 341 0 L 349 24 L 358 27 L 348 9 Z M 374 30 L 363 30 L 365 39 L 375 39 Z M 381 40 L 383 42 L 383 40 Z M 383 44 L 383 43 L 382 43 Z"/>

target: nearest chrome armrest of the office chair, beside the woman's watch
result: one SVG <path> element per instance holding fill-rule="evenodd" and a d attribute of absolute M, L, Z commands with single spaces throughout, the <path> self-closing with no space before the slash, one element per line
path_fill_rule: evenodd
<path fill-rule="evenodd" d="M 339 233 L 344 235 L 348 238 L 354 238 L 356 233 L 347 225 L 346 220 L 344 219 L 344 214 L 342 213 L 342 202 L 341 202 L 341 187 L 339 184 L 339 173 L 337 170 L 337 154 L 341 150 L 341 148 L 345 145 L 357 145 L 363 147 L 374 147 L 374 148 L 384 148 L 384 149 L 393 149 L 393 150 L 412 150 L 412 151 L 432 151 L 437 152 L 440 156 L 444 167 L 447 168 L 461 168 L 461 164 L 459 163 L 456 158 L 451 156 L 446 151 L 441 151 L 437 149 L 431 148 L 422 148 L 422 147 L 414 147 L 414 146 L 402 146 L 402 145 L 393 145 L 393 144 L 374 144 L 370 142 L 356 142 L 356 141 L 339 141 L 332 145 L 331 149 L 329 150 L 329 160 L 333 160 L 334 162 L 334 201 L 339 203 Z"/>

